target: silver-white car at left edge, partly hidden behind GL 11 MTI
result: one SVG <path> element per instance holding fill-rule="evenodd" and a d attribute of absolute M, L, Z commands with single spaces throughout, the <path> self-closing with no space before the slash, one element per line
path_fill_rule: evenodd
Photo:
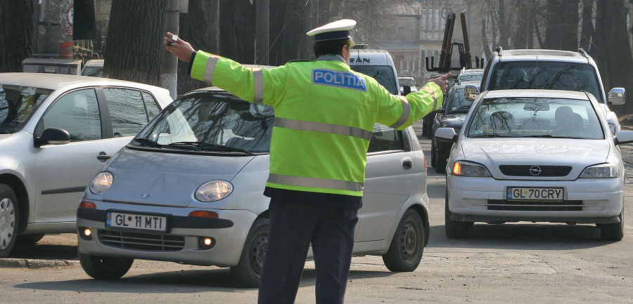
<path fill-rule="evenodd" d="M 131 81 L 0 74 L 0 258 L 16 239 L 75 232 L 90 179 L 171 102 Z"/>

